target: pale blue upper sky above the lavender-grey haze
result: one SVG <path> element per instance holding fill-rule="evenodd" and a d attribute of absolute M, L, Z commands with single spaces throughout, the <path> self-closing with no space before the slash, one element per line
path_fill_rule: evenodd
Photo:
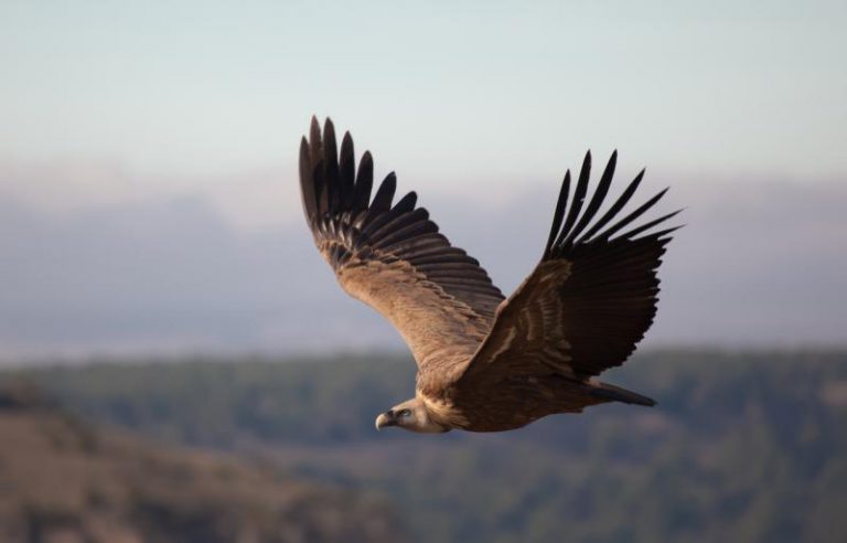
<path fill-rule="evenodd" d="M 6 161 L 283 168 L 317 113 L 432 190 L 558 179 L 588 147 L 847 173 L 843 1 L 3 0 L 0 21 Z"/>

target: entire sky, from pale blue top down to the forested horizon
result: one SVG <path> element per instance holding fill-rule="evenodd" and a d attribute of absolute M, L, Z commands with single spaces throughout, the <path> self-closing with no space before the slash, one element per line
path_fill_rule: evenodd
<path fill-rule="evenodd" d="M 525 255 L 524 267 L 482 235 L 459 235 L 482 243 L 510 286 L 532 266 L 521 252 L 544 230 L 564 170 L 586 149 L 617 148 L 622 174 L 647 166 L 653 187 L 673 185 L 668 205 L 695 220 L 678 243 L 685 262 L 671 254 L 666 264 L 680 285 L 668 297 L 686 304 L 667 304 L 711 312 L 660 317 L 657 338 L 837 343 L 847 300 L 824 292 L 839 286 L 832 244 L 847 236 L 838 211 L 847 204 L 845 28 L 841 1 L 4 0 L 0 274 L 17 288 L 0 295 L 0 351 L 285 350 L 303 336 L 285 332 L 289 317 L 314 310 L 315 299 L 339 316 L 336 332 L 301 347 L 396 345 L 377 320 L 349 330 L 344 319 L 364 313 L 324 294 L 336 288 L 329 272 L 312 274 L 320 262 L 294 182 L 311 115 L 332 116 L 360 152 L 374 152 L 377 173 L 396 170 L 401 189 L 446 209 L 448 233 L 492 213 L 503 214 L 497 226 L 508 219 L 526 237 L 503 245 Z M 146 225 L 154 221 L 168 228 Z M 733 221 L 746 231 L 726 232 Z M 773 228 L 797 245 L 780 249 Z M 121 248 L 139 239 L 138 251 Z M 694 255 L 721 252 L 747 263 L 744 280 L 728 275 L 708 294 L 682 287 L 716 277 L 706 264 L 686 269 L 700 262 Z M 293 262 L 312 275 L 288 279 L 302 273 Z M 203 263 L 215 266 L 207 283 Z M 270 263 L 278 275 L 257 272 Z M 156 272 L 163 266 L 174 276 Z M 814 292 L 804 290 L 810 270 Z M 256 290 L 228 290 L 247 276 Z M 312 277 L 322 279 L 305 288 Z M 755 277 L 773 279 L 780 295 Z M 197 292 L 170 290 L 181 281 Z M 730 302 L 732 319 L 720 315 Z M 808 317 L 789 322 L 780 304 Z M 262 307 L 274 317 L 245 317 Z M 184 330 L 161 327 L 174 313 Z M 239 324 L 236 340 L 225 333 L 234 321 L 253 328 Z"/>

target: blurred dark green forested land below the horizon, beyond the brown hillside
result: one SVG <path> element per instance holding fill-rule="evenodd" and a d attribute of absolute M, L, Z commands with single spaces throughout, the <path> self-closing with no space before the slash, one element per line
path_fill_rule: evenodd
<path fill-rule="evenodd" d="M 13 372 L 88 419 L 382 496 L 418 541 L 847 541 L 847 352 L 663 351 L 604 375 L 658 401 L 496 435 L 376 433 L 403 358 Z M 387 513 L 386 513 L 387 514 Z"/>

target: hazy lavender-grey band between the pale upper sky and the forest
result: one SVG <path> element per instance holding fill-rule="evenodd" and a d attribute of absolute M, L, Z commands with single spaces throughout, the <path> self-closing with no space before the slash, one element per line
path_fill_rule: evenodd
<path fill-rule="evenodd" d="M 662 187 L 645 183 L 645 193 Z M 668 184 L 665 209 L 689 206 L 679 216 L 688 226 L 664 257 L 648 342 L 844 344 L 847 253 L 835 248 L 847 232 L 847 183 Z M 555 182 L 473 205 L 416 188 L 442 231 L 505 292 L 532 270 Z M 280 206 L 299 207 L 293 190 L 289 200 Z M 0 188 L 0 363 L 93 352 L 401 348 L 390 326 L 337 288 L 293 211 L 283 224 L 244 230 L 199 198 L 58 213 Z"/>

